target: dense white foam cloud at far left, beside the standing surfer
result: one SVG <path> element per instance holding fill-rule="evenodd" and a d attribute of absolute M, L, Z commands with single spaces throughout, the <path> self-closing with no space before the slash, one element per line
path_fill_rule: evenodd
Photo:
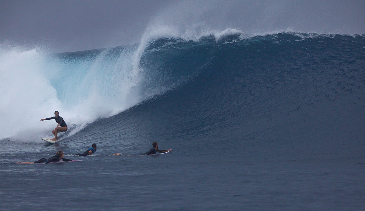
<path fill-rule="evenodd" d="M 42 55 L 35 49 L 1 50 L 0 139 L 20 131 L 44 129 L 46 125 L 37 124 L 45 118 L 44 111 L 62 109 L 56 90 L 42 74 L 44 65 Z"/>

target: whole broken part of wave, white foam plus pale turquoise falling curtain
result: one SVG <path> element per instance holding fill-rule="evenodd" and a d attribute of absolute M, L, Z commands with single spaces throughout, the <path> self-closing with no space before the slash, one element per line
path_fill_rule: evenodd
<path fill-rule="evenodd" d="M 54 116 L 55 110 L 68 124 L 70 136 L 141 101 L 138 65 L 132 65 L 135 48 L 113 55 L 119 58 L 109 58 L 110 50 L 91 61 L 67 63 L 38 49 L 0 49 L 0 140 L 51 137 L 57 123 L 39 120 Z"/>

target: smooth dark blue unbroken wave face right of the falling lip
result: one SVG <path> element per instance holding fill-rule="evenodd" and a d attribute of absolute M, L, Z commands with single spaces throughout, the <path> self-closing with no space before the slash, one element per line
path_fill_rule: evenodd
<path fill-rule="evenodd" d="M 139 95 L 153 97 L 85 133 L 184 140 L 199 153 L 354 152 L 364 146 L 364 43 L 292 33 L 157 39 L 140 60 Z"/>

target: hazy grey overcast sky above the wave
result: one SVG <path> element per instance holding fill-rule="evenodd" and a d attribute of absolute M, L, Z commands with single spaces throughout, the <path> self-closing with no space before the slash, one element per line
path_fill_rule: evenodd
<path fill-rule="evenodd" d="M 0 0 L 0 46 L 54 52 L 139 43 L 146 28 L 364 34 L 364 0 Z"/>

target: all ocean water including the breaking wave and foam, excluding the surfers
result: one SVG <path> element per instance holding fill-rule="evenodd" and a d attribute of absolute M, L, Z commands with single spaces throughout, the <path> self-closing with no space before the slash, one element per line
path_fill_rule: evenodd
<path fill-rule="evenodd" d="M 2 49 L 0 73 L 1 211 L 365 207 L 364 35 Z M 16 163 L 59 150 L 74 162 Z"/>

